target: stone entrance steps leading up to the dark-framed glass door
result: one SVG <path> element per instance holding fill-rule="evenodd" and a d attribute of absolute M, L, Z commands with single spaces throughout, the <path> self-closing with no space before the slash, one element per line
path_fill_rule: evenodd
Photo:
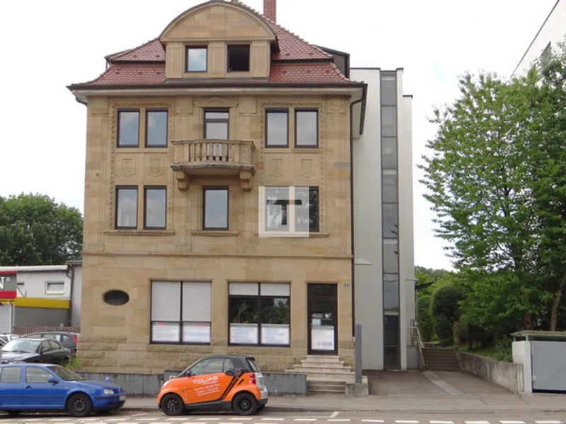
<path fill-rule="evenodd" d="M 338 356 L 307 355 L 300 365 L 285 372 L 306 374 L 308 389 L 316 393 L 345 394 L 346 383 L 354 382 L 356 373 L 344 365 Z M 367 382 L 367 377 L 362 377 Z"/>

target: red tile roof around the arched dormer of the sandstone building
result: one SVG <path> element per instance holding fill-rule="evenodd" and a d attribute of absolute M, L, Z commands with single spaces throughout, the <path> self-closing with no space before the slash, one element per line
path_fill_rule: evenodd
<path fill-rule="evenodd" d="M 265 18 L 261 13 L 241 1 L 232 0 L 232 2 L 265 20 L 275 33 L 279 46 L 279 51 L 272 54 L 269 81 L 246 81 L 246 84 L 353 82 L 340 73 L 330 54 Z M 157 38 L 149 40 L 139 47 L 110 54 L 106 59 L 110 66 L 98 78 L 72 86 L 155 86 L 160 84 L 183 83 L 190 85 L 203 83 L 199 80 L 166 81 L 165 50 Z M 285 63 L 286 61 L 291 61 L 291 63 Z M 216 80 L 216 83 L 222 82 L 244 83 L 243 81 Z"/>

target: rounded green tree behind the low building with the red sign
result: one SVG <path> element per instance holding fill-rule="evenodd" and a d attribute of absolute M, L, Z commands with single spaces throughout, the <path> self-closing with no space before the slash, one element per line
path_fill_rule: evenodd
<path fill-rule="evenodd" d="M 57 265 L 80 259 L 83 219 L 41 194 L 0 197 L 0 265 Z"/>

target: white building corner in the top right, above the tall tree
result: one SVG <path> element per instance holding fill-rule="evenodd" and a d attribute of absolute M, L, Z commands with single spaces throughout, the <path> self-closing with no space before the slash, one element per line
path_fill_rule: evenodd
<path fill-rule="evenodd" d="M 519 60 L 512 76 L 520 76 L 531 69 L 531 66 L 550 54 L 553 48 L 557 47 L 558 42 L 565 42 L 566 36 L 566 1 L 556 0 L 553 8 L 538 29 L 533 41 L 526 52 Z"/>

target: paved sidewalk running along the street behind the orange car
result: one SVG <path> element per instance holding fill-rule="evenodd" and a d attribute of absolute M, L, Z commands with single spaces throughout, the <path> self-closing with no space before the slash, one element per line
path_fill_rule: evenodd
<path fill-rule="evenodd" d="M 124 409 L 157 409 L 156 397 L 129 398 Z M 383 411 L 383 412 L 565 412 L 564 394 L 490 394 L 470 395 L 395 395 L 347 397 L 341 395 L 271 396 L 266 410 L 281 412 L 308 411 Z"/>

